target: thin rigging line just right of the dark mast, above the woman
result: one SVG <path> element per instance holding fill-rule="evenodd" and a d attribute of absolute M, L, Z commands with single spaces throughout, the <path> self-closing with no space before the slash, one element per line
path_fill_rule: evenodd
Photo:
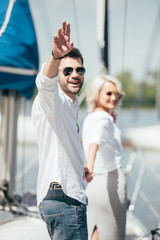
<path fill-rule="evenodd" d="M 124 79 L 124 65 L 125 65 L 125 46 L 126 46 L 126 30 L 127 30 L 127 10 L 128 0 L 125 0 L 124 6 L 124 21 L 123 21 L 123 37 L 122 37 L 122 82 Z"/>

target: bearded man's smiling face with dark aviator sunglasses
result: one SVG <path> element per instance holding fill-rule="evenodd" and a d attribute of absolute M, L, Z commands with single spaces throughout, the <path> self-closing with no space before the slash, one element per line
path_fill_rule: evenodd
<path fill-rule="evenodd" d="M 64 75 L 66 67 L 71 68 L 71 71 L 67 73 L 67 76 Z M 66 57 L 61 60 L 59 66 L 59 76 L 58 83 L 61 90 L 68 95 L 70 98 L 75 100 L 76 94 L 80 91 L 83 81 L 84 75 L 81 75 L 76 71 L 79 70 L 77 68 L 82 67 L 82 62 L 80 58 L 70 58 Z M 73 71 L 72 71 L 73 70 Z"/>

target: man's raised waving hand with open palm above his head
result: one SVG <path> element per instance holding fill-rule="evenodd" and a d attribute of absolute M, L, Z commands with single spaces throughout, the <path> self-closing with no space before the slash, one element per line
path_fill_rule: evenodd
<path fill-rule="evenodd" d="M 53 54 L 55 58 L 61 58 L 69 53 L 73 48 L 70 41 L 70 24 L 63 21 L 62 28 L 58 29 L 58 34 L 53 37 Z"/>

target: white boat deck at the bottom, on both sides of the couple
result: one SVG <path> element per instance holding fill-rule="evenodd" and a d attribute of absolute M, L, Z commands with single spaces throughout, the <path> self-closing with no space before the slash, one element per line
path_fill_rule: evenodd
<path fill-rule="evenodd" d="M 131 212 L 127 214 L 126 240 L 149 240 L 145 230 Z M 40 218 L 16 217 L 0 226 L 1 240 L 50 240 L 46 225 Z"/>

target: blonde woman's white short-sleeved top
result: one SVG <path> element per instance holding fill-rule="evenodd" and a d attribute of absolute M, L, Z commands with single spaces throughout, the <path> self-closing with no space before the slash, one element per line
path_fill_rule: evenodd
<path fill-rule="evenodd" d="M 112 116 L 105 111 L 87 115 L 83 123 L 82 141 L 85 158 L 91 143 L 98 144 L 94 173 L 102 174 L 121 167 L 121 133 Z"/>

